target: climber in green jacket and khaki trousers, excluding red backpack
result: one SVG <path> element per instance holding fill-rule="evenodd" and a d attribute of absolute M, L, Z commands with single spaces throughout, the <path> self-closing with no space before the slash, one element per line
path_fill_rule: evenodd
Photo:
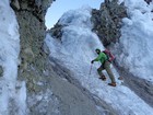
<path fill-rule="evenodd" d="M 95 51 L 97 53 L 97 58 L 95 58 L 94 60 L 92 60 L 91 62 L 93 64 L 94 61 L 101 61 L 101 67 L 97 69 L 97 72 L 99 74 L 99 79 L 102 80 L 106 80 L 106 77 L 104 76 L 104 73 L 102 72 L 102 70 L 106 70 L 110 80 L 111 80 L 111 83 L 108 83 L 108 85 L 111 85 L 111 87 L 116 87 L 116 81 L 115 81 L 115 77 L 114 77 L 114 73 L 110 69 L 110 62 L 108 61 L 108 57 L 105 55 L 105 53 L 101 51 L 101 49 L 96 48 Z"/>

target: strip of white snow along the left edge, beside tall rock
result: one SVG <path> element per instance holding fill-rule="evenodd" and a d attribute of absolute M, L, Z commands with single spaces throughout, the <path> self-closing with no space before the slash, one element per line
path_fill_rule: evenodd
<path fill-rule="evenodd" d="M 15 14 L 10 8 L 10 0 L 0 1 L 0 115 L 16 108 L 17 115 L 24 115 L 26 104 L 25 82 L 16 81 L 20 53 L 19 25 Z M 19 88 L 19 89 L 16 89 Z"/>

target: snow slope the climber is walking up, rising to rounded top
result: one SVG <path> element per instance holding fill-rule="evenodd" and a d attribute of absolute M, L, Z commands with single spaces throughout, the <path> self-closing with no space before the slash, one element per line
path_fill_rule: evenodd
<path fill-rule="evenodd" d="M 95 96 L 106 101 L 119 115 L 153 115 L 153 108 L 134 94 L 129 88 L 121 85 L 117 80 L 118 73 L 113 68 L 116 76 L 117 87 L 107 85 L 107 81 L 98 79 L 96 69 L 99 64 L 94 62 L 90 74 L 91 60 L 97 55 L 95 48 L 104 49 L 96 34 L 91 32 L 90 22 L 91 9 L 82 8 L 69 11 L 62 15 L 59 23 L 68 26 L 63 27 L 61 41 L 46 36 L 46 44 L 50 49 L 50 57 L 58 59 L 59 64 L 69 68 L 83 87 L 89 89 Z"/>

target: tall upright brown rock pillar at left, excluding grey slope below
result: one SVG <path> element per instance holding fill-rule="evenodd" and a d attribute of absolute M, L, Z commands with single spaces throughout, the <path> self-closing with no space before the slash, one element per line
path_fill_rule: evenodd
<path fill-rule="evenodd" d="M 30 92 L 39 91 L 36 84 L 45 70 L 46 54 L 43 50 L 45 38 L 45 13 L 51 0 L 12 0 L 20 25 L 21 65 L 19 79 L 26 80 Z"/>

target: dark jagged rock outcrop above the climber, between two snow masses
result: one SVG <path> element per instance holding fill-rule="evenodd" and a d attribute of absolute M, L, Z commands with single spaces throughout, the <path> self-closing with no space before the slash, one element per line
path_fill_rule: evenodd
<path fill-rule="evenodd" d="M 126 16 L 126 7 L 123 3 L 118 4 L 118 0 L 105 0 L 99 10 L 93 9 L 91 19 L 93 32 L 98 35 L 104 46 L 119 39 L 121 19 Z"/>

